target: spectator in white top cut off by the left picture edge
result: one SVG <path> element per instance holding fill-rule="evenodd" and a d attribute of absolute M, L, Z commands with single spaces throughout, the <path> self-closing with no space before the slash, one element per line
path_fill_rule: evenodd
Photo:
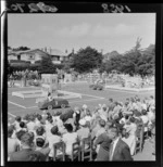
<path fill-rule="evenodd" d="M 17 139 L 12 138 L 13 131 L 13 126 L 8 127 L 8 156 L 10 156 L 11 153 L 16 152 L 20 146 Z"/>

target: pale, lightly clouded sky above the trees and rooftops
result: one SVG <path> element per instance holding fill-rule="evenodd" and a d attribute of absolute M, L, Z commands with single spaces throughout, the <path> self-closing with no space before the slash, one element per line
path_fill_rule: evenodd
<path fill-rule="evenodd" d="M 8 46 L 75 52 L 88 46 L 108 53 L 155 43 L 154 13 L 8 14 Z"/>

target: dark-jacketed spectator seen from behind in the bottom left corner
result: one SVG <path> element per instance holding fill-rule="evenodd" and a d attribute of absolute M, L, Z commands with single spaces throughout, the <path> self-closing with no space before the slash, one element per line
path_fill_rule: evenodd
<path fill-rule="evenodd" d="M 37 154 L 39 162 L 45 162 L 46 156 L 40 152 L 33 151 L 33 140 L 34 137 L 26 132 L 21 138 L 22 150 L 18 152 L 14 152 L 10 155 L 10 162 L 30 162 L 30 155 Z"/>

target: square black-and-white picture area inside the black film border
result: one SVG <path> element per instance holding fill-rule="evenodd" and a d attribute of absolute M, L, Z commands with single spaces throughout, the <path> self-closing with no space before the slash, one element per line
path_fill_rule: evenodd
<path fill-rule="evenodd" d="M 156 12 L 99 5 L 9 9 L 7 162 L 156 160 Z"/>

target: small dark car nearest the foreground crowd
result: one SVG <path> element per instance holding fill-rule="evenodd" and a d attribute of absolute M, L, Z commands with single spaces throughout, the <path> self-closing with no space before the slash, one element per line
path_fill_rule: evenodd
<path fill-rule="evenodd" d="M 67 107 L 68 101 L 64 100 L 64 99 L 52 99 L 51 101 L 49 101 L 48 99 L 42 101 L 42 102 L 38 102 L 38 107 L 40 110 L 52 110 L 55 107 L 61 107 L 61 108 L 65 108 Z"/>

